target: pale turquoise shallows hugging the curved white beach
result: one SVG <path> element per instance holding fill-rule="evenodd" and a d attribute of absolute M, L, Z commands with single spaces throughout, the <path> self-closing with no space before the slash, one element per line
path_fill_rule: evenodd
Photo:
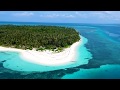
<path fill-rule="evenodd" d="M 76 62 L 70 62 L 67 65 L 62 66 L 43 66 L 43 65 L 37 65 L 30 62 L 27 62 L 23 60 L 20 57 L 19 53 L 15 52 L 1 52 L 0 57 L 1 61 L 6 60 L 3 62 L 4 68 L 16 70 L 16 71 L 39 71 L 39 72 L 45 72 L 45 71 L 52 71 L 52 70 L 58 70 L 58 69 L 65 69 L 70 67 L 76 67 L 82 64 L 87 64 L 88 59 L 92 58 L 92 55 L 90 52 L 87 51 L 87 49 L 84 47 L 84 44 L 87 43 L 87 39 L 81 36 L 81 44 L 77 48 L 77 57 Z M 85 58 L 88 59 L 85 59 Z"/>

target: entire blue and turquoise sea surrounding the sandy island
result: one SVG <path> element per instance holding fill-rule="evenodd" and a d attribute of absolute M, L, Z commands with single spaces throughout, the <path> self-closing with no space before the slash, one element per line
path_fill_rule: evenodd
<path fill-rule="evenodd" d="M 82 39 L 76 62 L 42 66 L 23 60 L 18 52 L 0 51 L 0 79 L 120 79 L 120 25 L 0 22 L 0 25 L 73 27 Z"/>

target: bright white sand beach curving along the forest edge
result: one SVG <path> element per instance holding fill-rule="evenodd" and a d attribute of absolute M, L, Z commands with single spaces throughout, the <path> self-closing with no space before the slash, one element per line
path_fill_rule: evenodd
<path fill-rule="evenodd" d="M 70 48 L 66 48 L 60 53 L 53 53 L 49 50 L 35 51 L 35 50 L 22 50 L 16 48 L 0 47 L 0 51 L 15 51 L 20 53 L 20 57 L 31 63 L 45 65 L 45 66 L 60 66 L 68 63 L 74 63 L 76 57 L 77 47 L 81 44 L 82 39 L 79 42 L 71 45 Z"/>

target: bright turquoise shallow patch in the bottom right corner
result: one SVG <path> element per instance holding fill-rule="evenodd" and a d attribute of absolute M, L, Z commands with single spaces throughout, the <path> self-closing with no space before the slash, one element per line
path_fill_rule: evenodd
<path fill-rule="evenodd" d="M 62 79 L 118 79 L 120 78 L 120 65 L 103 65 L 100 68 L 81 69 L 68 74 Z"/>

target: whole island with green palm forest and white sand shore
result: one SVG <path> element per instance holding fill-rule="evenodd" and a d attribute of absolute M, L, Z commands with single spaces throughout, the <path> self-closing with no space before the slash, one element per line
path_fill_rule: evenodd
<path fill-rule="evenodd" d="M 74 62 L 80 34 L 74 28 L 43 25 L 0 25 L 0 51 L 20 52 L 21 58 L 41 65 Z"/>

